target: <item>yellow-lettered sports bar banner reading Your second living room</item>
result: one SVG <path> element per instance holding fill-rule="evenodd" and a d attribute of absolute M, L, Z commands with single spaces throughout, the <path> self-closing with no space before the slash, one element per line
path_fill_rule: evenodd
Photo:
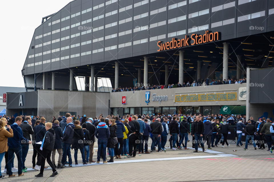
<path fill-rule="evenodd" d="M 237 100 L 237 92 L 175 95 L 175 102 L 233 101 L 233 100 Z"/>

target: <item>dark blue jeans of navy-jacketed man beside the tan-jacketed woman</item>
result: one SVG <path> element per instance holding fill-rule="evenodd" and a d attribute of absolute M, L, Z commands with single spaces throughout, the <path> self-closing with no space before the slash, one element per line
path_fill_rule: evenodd
<path fill-rule="evenodd" d="M 9 148 L 8 150 L 9 156 L 8 156 L 8 163 L 7 163 L 7 172 L 9 175 L 12 175 L 11 171 L 11 162 L 13 161 L 13 154 L 16 154 L 17 161 L 18 161 L 18 174 L 22 174 L 22 147 L 19 145 L 17 148 Z"/>

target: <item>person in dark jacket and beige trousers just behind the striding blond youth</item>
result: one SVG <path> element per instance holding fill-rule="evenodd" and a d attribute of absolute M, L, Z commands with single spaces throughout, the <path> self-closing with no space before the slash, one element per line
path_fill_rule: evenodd
<path fill-rule="evenodd" d="M 57 164 L 57 169 L 59 169 L 61 165 L 61 160 L 62 160 L 62 155 L 63 155 L 63 150 L 62 150 L 62 138 L 64 137 L 64 134 L 62 132 L 61 127 L 59 126 L 59 121 L 55 120 L 54 123 L 52 124 L 52 128 L 55 131 L 55 143 L 53 147 L 53 151 L 51 153 L 51 161 L 56 168 L 55 165 L 55 152 L 57 150 L 59 157 L 58 157 L 58 164 Z"/>

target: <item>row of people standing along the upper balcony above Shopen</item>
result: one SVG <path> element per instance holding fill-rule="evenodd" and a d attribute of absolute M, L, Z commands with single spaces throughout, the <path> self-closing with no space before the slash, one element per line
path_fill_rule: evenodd
<path fill-rule="evenodd" d="M 178 88 L 178 87 L 191 87 L 191 86 L 207 86 L 207 85 L 221 85 L 221 84 L 238 84 L 238 83 L 246 83 L 246 79 L 224 79 L 223 81 L 221 80 L 212 80 L 211 82 L 209 81 L 209 78 L 206 80 L 202 80 L 202 83 L 197 82 L 194 80 L 192 83 L 191 82 L 184 82 L 183 84 L 168 84 L 168 85 L 152 85 L 148 84 L 148 86 L 136 86 L 136 87 L 119 87 L 119 88 L 112 88 L 111 92 L 126 92 L 126 91 L 136 91 L 136 90 L 154 90 L 154 89 L 164 89 L 164 88 Z"/>

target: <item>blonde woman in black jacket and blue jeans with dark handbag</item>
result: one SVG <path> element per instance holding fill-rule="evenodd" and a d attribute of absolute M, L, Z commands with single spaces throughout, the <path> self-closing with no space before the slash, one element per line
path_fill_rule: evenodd
<path fill-rule="evenodd" d="M 111 142 L 111 140 L 112 140 L 112 138 L 117 137 L 116 130 L 117 130 L 118 127 L 117 127 L 117 124 L 114 121 L 114 119 L 109 119 L 108 123 L 109 123 L 109 132 L 110 132 L 110 135 L 109 135 L 109 138 L 108 138 L 108 144 L 106 145 L 108 147 L 108 151 L 109 151 L 108 153 L 109 153 L 109 156 L 110 156 L 110 160 L 108 160 L 108 162 L 114 162 L 113 158 L 114 158 L 115 144 L 113 144 Z"/>

